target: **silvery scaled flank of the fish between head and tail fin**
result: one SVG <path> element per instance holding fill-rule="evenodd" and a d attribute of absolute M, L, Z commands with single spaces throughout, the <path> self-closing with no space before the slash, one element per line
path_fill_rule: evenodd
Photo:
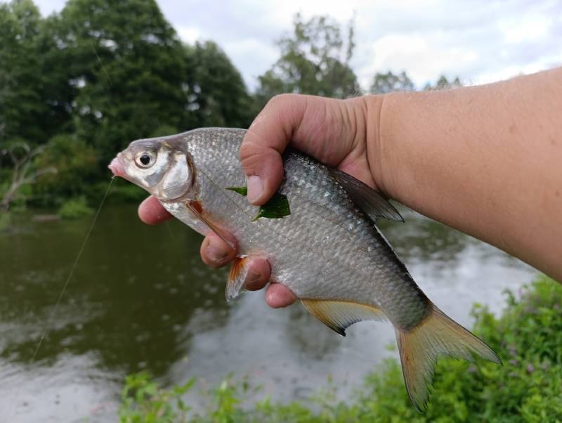
<path fill-rule="evenodd" d="M 242 136 L 242 131 L 232 130 L 225 134 L 228 139 L 216 138 L 211 145 L 204 136 L 188 143 L 197 171 L 209 178 L 208 183 L 200 184 L 197 200 L 219 225 L 235 235 L 240 252 L 270 257 L 272 279 L 287 285 L 299 298 L 317 297 L 315 283 L 319 283 L 325 286 L 322 299 L 380 307 L 393 323 L 405 327 L 419 323 L 426 313 L 425 296 L 409 287 L 400 289 L 405 285 L 402 278 L 414 283 L 410 275 L 396 266 L 373 223 L 358 211 L 325 166 L 289 152 L 280 193 L 287 195 L 292 214 L 285 219 L 251 221 L 249 216 L 256 216 L 258 208 L 242 195 L 226 190 L 245 185 L 242 168 L 232 166 L 238 162 Z M 318 193 L 320 187 L 329 193 L 329 200 Z M 236 204 L 236 211 L 228 207 L 229 202 Z M 333 233 L 337 242 L 326 245 L 322 242 L 325 233 Z M 365 254 L 368 247 L 372 252 Z M 355 265 L 350 266 L 351 261 Z M 315 280 L 318 275 L 322 280 Z M 388 285 L 394 289 L 389 290 Z M 407 313 L 396 313 L 397 304 L 407 306 Z"/>

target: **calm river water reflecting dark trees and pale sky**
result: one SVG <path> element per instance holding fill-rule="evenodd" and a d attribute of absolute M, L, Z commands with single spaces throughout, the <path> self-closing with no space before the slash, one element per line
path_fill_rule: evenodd
<path fill-rule="evenodd" d="M 385 235 L 420 287 L 470 326 L 474 302 L 501 311 L 504 289 L 535 271 L 471 237 L 403 211 Z M 382 358 L 396 356 L 391 325 L 360 323 L 339 337 L 296 304 L 272 310 L 263 292 L 227 304 L 226 271 L 200 261 L 200 235 L 172 221 L 146 226 L 134 206 L 107 206 L 46 337 L 31 358 L 91 219 L 32 221 L 0 233 L 0 422 L 116 419 L 124 375 L 164 384 L 228 372 L 248 375 L 274 400 L 304 398 L 331 375 L 339 398 Z M 200 406 L 201 398 L 189 401 Z"/>

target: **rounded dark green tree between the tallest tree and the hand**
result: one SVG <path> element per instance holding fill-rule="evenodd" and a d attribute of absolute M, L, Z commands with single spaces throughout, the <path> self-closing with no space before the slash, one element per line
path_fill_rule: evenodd
<path fill-rule="evenodd" d="M 254 108 L 240 72 L 213 41 L 185 46 L 187 78 L 186 128 L 251 123 Z"/>

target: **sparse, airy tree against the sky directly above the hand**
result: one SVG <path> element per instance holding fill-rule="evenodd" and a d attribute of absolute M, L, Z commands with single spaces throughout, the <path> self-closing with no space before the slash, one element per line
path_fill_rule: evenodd
<path fill-rule="evenodd" d="M 306 93 L 346 98 L 359 93 L 357 77 L 349 65 L 353 56 L 353 23 L 346 43 L 337 23 L 325 16 L 304 21 L 294 18 L 294 32 L 277 42 L 281 57 L 259 77 L 256 93 L 262 105 L 277 93 Z"/>

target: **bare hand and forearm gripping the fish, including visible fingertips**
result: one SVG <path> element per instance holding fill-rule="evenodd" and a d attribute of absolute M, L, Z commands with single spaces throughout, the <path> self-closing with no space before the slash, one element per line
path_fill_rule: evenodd
<path fill-rule="evenodd" d="M 562 280 L 562 68 L 495 84 L 334 100 L 284 94 L 270 100 L 240 148 L 248 200 L 266 202 L 282 176 L 289 143 L 390 198 L 488 242 Z M 145 223 L 171 216 L 154 197 Z M 211 233 L 204 263 L 235 257 Z M 248 289 L 270 277 L 251 261 Z M 272 283 L 272 307 L 296 297 Z"/>

